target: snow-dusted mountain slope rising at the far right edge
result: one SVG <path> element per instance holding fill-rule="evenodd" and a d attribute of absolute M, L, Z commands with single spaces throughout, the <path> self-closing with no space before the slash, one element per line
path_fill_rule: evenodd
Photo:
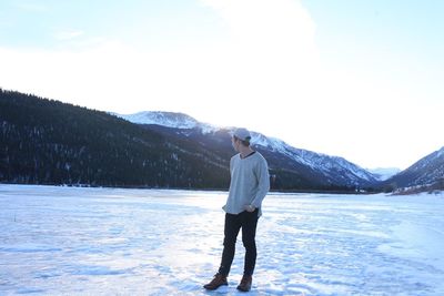
<path fill-rule="evenodd" d="M 444 180 L 444 146 L 421 159 L 386 182 L 396 187 L 430 185 Z"/>

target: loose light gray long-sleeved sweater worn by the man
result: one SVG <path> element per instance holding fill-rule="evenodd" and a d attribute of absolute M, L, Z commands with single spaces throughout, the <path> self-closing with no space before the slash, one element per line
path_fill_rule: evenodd
<path fill-rule="evenodd" d="M 266 193 L 270 190 L 269 166 L 265 159 L 254 152 L 245 159 L 241 154 L 231 157 L 230 161 L 230 193 L 223 210 L 229 214 L 239 214 L 245 211 L 245 205 L 260 208 Z"/>

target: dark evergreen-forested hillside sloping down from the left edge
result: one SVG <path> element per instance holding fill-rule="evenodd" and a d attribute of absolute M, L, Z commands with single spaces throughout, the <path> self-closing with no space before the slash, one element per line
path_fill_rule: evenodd
<path fill-rule="evenodd" d="M 153 131 L 53 100 L 0 90 L 0 182 L 226 188 L 228 163 Z"/>

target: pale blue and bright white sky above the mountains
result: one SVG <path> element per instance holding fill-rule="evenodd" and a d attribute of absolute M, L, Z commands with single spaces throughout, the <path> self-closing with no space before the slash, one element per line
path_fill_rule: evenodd
<path fill-rule="evenodd" d="M 0 88 L 406 169 L 444 146 L 442 16 L 441 0 L 2 0 Z"/>

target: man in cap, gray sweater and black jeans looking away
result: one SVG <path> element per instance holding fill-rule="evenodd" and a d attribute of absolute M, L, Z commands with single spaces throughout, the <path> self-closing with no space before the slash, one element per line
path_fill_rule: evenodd
<path fill-rule="evenodd" d="M 269 167 L 265 159 L 250 146 L 251 135 L 245 129 L 238 129 L 232 136 L 236 155 L 230 161 L 230 192 L 225 211 L 225 226 L 222 261 L 218 274 L 203 287 L 216 289 L 228 285 L 226 277 L 235 253 L 235 242 L 242 228 L 242 243 L 245 247 L 244 272 L 239 290 L 249 292 L 256 262 L 256 225 L 261 216 L 261 204 L 270 190 Z"/>

